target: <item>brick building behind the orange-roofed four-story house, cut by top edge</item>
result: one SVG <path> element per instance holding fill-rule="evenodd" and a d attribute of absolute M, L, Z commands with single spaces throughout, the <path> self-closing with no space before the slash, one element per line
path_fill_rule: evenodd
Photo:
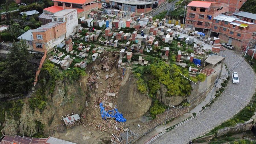
<path fill-rule="evenodd" d="M 205 1 L 228 4 L 229 5 L 229 7 L 228 7 L 229 12 L 237 12 L 237 11 L 239 11 L 239 9 L 242 7 L 242 5 L 247 0 L 205 0 Z"/>

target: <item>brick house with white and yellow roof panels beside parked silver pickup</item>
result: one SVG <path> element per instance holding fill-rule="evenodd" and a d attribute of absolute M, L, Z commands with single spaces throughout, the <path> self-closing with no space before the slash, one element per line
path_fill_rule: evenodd
<path fill-rule="evenodd" d="M 256 24 L 239 18 L 219 15 L 213 18 L 211 34 L 218 35 L 220 41 L 231 43 L 234 47 L 244 49 L 255 35 Z"/>

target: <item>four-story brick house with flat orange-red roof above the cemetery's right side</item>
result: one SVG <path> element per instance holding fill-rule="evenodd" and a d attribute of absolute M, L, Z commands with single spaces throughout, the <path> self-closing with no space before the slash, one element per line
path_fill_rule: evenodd
<path fill-rule="evenodd" d="M 205 35 L 210 34 L 212 18 L 228 12 L 227 4 L 208 1 L 191 1 L 187 7 L 185 27 L 203 32 Z"/>

